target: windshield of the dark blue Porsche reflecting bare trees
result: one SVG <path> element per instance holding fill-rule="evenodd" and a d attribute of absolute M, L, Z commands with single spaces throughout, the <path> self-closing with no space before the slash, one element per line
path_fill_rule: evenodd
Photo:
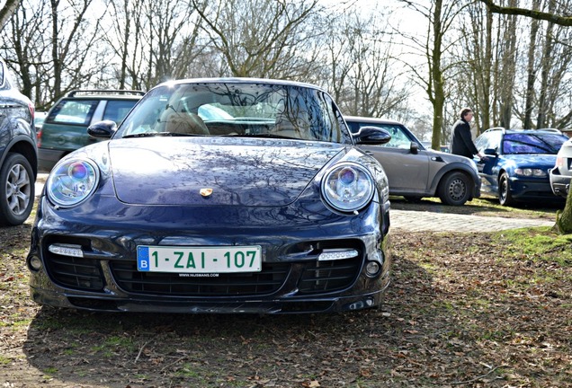
<path fill-rule="evenodd" d="M 288 124 L 292 133 L 297 134 L 295 137 L 302 139 L 351 143 L 347 130 L 336 119 L 339 112 L 326 93 L 285 84 L 207 83 L 160 87 L 148 93 L 130 114 L 122 136 L 138 131 L 161 132 L 165 128 L 162 122 L 165 111 L 201 116 L 201 106 L 223 110 L 229 116 L 241 119 L 243 124 L 250 120 L 253 128 L 259 131 L 264 127 L 255 124 L 265 121 L 275 126 Z M 201 119 L 209 127 L 211 118 Z M 224 119 L 228 121 L 228 116 Z"/>

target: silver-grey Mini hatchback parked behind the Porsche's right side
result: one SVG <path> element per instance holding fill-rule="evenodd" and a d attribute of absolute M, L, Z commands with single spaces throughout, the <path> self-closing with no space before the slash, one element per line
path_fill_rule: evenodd
<path fill-rule="evenodd" d="M 353 133 L 364 127 L 383 128 L 391 135 L 384 145 L 360 145 L 388 175 L 389 193 L 417 201 L 439 197 L 446 205 L 463 205 L 480 195 L 475 163 L 454 154 L 425 148 L 406 126 L 388 119 L 345 116 Z"/>

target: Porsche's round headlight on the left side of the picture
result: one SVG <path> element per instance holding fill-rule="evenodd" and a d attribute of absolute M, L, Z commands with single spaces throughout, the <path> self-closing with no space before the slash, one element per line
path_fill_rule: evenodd
<path fill-rule="evenodd" d="M 89 197 L 99 182 L 99 170 L 94 162 L 70 159 L 56 164 L 49 173 L 46 188 L 48 198 L 60 207 L 75 206 Z"/>

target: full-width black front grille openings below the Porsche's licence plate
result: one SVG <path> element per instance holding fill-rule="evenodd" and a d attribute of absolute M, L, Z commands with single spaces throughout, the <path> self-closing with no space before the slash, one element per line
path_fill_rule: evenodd
<path fill-rule="evenodd" d="M 46 246 L 53 241 L 46 242 Z M 91 251 L 86 239 L 58 237 L 61 243 L 73 243 Z M 263 263 L 260 272 L 220 273 L 208 276 L 191 274 L 142 272 L 136 260 L 108 260 L 107 257 L 74 258 L 45 251 L 49 277 L 60 287 L 103 292 L 107 285 L 104 274 L 108 268 L 118 287 L 139 295 L 170 295 L 182 297 L 233 297 L 273 295 L 279 291 L 289 295 L 318 295 L 352 287 L 360 276 L 363 260 L 362 245 L 352 240 L 308 242 L 292 245 L 280 262 Z M 357 257 L 345 260 L 318 261 L 323 249 L 353 248 Z M 300 255 L 300 252 L 305 252 Z M 303 257 L 301 257 L 303 256 Z"/>

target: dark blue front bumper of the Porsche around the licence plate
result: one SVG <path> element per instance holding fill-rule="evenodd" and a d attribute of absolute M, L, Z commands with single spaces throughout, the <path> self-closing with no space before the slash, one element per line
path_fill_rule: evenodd
<path fill-rule="evenodd" d="M 159 214 L 152 207 L 122 206 L 115 210 L 116 216 L 122 210 L 137 210 L 139 220 L 124 224 L 103 216 L 106 221 L 97 225 L 97 219 L 78 218 L 77 212 L 67 215 L 40 198 L 27 259 L 34 301 L 115 312 L 329 313 L 378 305 L 389 286 L 389 235 L 381 232 L 379 220 L 384 210 L 375 203 L 358 216 L 314 214 L 315 219 L 322 218 L 318 225 L 302 218 L 290 222 L 274 219 L 264 227 L 225 225 L 221 220 L 233 216 L 225 218 L 220 213 L 224 209 L 214 209 L 210 219 L 219 220 L 219 226 L 202 230 L 192 226 L 199 220 L 180 207 L 171 209 L 168 216 L 165 208 Z M 246 225 L 255 224 L 255 216 L 271 215 L 260 208 L 252 209 L 251 214 L 244 210 L 240 219 Z M 178 211 L 180 223 L 173 218 L 174 211 Z M 68 217 L 71 215 L 75 218 Z M 156 222 L 141 226 L 143 219 Z M 49 250 L 54 244 L 81 246 L 84 257 L 54 253 Z M 138 245 L 147 244 L 258 244 L 263 247 L 263 269 L 208 277 L 142 273 L 137 270 L 135 251 Z M 323 249 L 355 249 L 359 254 L 319 261 L 317 253 Z M 371 262 L 379 265 L 374 274 L 367 272 Z"/>

